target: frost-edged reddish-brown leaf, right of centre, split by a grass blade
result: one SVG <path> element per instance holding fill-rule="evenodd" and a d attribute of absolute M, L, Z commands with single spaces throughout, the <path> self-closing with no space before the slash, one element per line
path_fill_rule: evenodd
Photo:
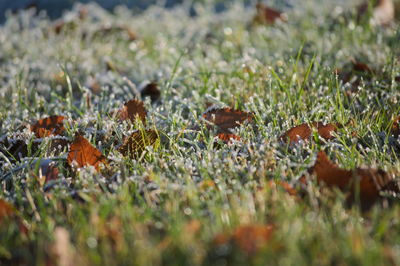
<path fill-rule="evenodd" d="M 336 132 L 339 127 L 340 125 L 337 124 L 324 124 L 322 122 L 304 123 L 289 129 L 279 139 L 283 141 L 289 139 L 291 144 L 297 143 L 300 140 L 308 140 L 314 128 L 322 138 L 329 140 L 334 138 L 332 132 Z"/>

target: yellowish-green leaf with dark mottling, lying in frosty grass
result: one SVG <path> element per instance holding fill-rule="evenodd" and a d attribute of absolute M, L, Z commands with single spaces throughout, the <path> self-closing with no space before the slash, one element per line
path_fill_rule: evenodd
<path fill-rule="evenodd" d="M 159 139 L 155 130 L 135 131 L 124 140 L 118 151 L 124 156 L 130 156 L 134 159 L 139 158 L 147 146 L 152 146 Z"/>

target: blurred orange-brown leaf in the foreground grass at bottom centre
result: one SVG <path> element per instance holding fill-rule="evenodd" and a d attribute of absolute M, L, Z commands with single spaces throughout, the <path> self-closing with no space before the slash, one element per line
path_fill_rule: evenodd
<path fill-rule="evenodd" d="M 253 255 L 265 247 L 275 231 L 275 226 L 243 225 L 237 227 L 231 234 L 218 234 L 214 238 L 214 245 L 231 244 L 247 255 Z"/>

